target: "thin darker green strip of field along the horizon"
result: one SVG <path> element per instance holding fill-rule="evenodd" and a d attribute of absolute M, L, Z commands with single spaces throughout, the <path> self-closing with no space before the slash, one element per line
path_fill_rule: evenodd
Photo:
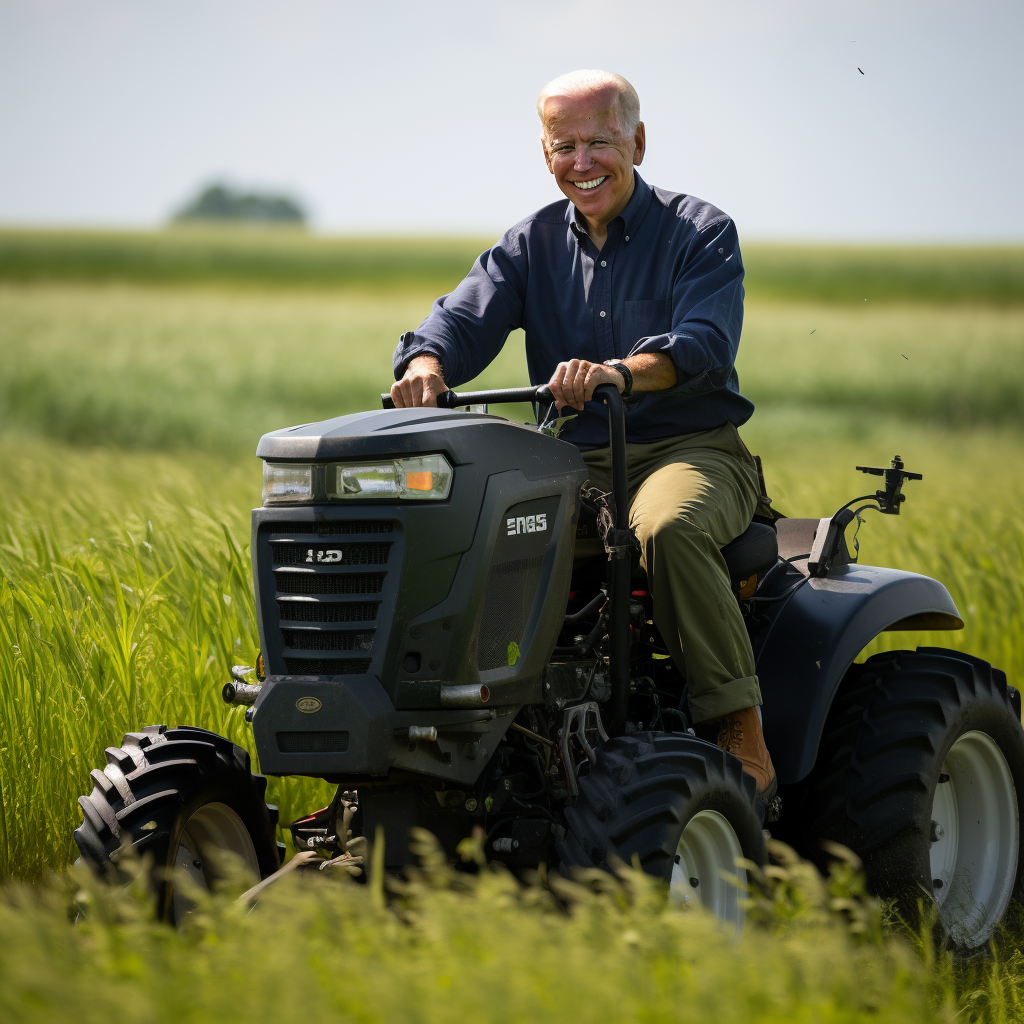
<path fill-rule="evenodd" d="M 292 228 L 0 228 L 0 279 L 446 291 L 497 236 L 318 238 Z M 748 293 L 787 301 L 1019 305 L 1024 247 L 743 244 Z"/>

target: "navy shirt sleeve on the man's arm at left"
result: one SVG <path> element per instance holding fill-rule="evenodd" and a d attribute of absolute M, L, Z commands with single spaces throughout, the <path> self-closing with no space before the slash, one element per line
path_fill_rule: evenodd
<path fill-rule="evenodd" d="M 395 380 L 410 359 L 434 355 L 449 387 L 464 384 L 498 355 L 512 331 L 522 327 L 526 255 L 520 230 L 512 228 L 482 253 L 459 287 L 434 302 L 419 328 L 401 336 L 392 357 Z"/>

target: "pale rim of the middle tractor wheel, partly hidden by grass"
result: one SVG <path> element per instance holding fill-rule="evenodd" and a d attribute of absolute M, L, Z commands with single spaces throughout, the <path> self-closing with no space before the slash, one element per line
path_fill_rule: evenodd
<path fill-rule="evenodd" d="M 698 811 L 676 848 L 669 891 L 677 903 L 699 903 L 737 931 L 743 924 L 746 870 L 735 829 L 719 811 Z M 738 882 L 738 884 L 737 884 Z"/>

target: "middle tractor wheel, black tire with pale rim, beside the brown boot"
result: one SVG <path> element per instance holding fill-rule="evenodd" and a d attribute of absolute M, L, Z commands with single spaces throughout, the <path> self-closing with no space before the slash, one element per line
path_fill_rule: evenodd
<path fill-rule="evenodd" d="M 579 785 L 555 848 L 562 870 L 607 870 L 637 858 L 669 884 L 673 900 L 700 903 L 742 927 L 745 893 L 722 876 L 745 884 L 737 858 L 760 865 L 767 853 L 754 779 L 736 758 L 690 735 L 633 733 L 599 746 Z"/>

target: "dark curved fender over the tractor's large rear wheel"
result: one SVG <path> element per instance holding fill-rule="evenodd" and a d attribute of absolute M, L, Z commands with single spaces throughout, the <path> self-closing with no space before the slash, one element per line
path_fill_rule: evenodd
<path fill-rule="evenodd" d="M 937 580 L 844 565 L 786 599 L 757 659 L 765 741 L 781 784 L 814 766 L 825 718 L 854 658 L 887 630 L 956 630 L 964 623 Z"/>

